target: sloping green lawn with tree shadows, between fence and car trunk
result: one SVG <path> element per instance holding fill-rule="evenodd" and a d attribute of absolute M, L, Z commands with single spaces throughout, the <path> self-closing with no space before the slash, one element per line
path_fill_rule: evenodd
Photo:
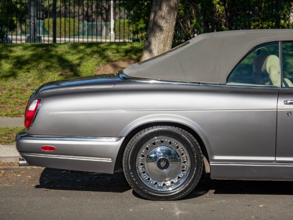
<path fill-rule="evenodd" d="M 143 43 L 0 44 L 0 116 L 23 116 L 33 90 L 46 82 L 94 75 L 99 66 L 109 62 L 138 60 L 143 46 Z"/>

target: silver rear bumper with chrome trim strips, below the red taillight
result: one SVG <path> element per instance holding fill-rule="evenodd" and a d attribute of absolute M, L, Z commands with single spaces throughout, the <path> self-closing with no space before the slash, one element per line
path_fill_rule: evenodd
<path fill-rule="evenodd" d="M 20 132 L 16 148 L 29 165 L 77 171 L 114 172 L 124 137 L 35 136 Z M 55 151 L 42 151 L 54 146 Z"/>

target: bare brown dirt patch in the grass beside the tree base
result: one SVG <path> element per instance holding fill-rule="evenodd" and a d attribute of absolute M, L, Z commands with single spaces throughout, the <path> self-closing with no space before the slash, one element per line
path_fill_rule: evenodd
<path fill-rule="evenodd" d="M 131 66 L 137 62 L 137 60 L 127 60 L 108 63 L 100 66 L 96 71 L 96 74 L 117 73 L 118 71 L 125 69 L 127 66 Z"/>

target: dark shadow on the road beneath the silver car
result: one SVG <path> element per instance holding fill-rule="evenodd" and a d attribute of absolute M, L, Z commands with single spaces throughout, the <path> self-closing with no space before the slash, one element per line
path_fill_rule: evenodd
<path fill-rule="evenodd" d="M 46 168 L 40 176 L 36 188 L 55 190 L 76 190 L 93 192 L 123 193 L 130 190 L 122 172 L 112 174 L 93 174 Z M 198 198 L 207 194 L 248 194 L 248 195 L 293 195 L 293 182 L 290 181 L 245 181 L 211 180 L 202 177 L 196 188 L 185 198 Z M 133 191 L 133 195 L 140 197 Z"/>

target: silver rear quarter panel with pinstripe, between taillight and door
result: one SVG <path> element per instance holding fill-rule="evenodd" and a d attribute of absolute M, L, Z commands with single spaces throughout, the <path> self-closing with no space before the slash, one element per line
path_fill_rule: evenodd
<path fill-rule="evenodd" d="M 125 137 L 148 123 L 174 122 L 197 132 L 210 162 L 272 162 L 277 94 L 273 88 L 129 81 L 114 88 L 44 92 L 28 133 Z"/>

